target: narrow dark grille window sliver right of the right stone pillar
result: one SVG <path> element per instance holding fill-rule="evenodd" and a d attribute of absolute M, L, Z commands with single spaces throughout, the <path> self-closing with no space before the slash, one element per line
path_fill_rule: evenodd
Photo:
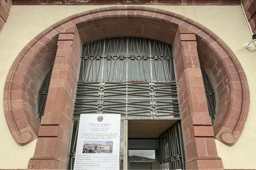
<path fill-rule="evenodd" d="M 207 105 L 208 105 L 208 110 L 211 116 L 211 122 L 214 123 L 215 117 L 216 117 L 216 111 L 215 111 L 215 92 L 213 90 L 211 81 L 208 77 L 208 75 L 206 74 L 206 72 L 204 71 L 204 69 L 201 67 L 201 71 L 202 71 L 202 77 L 203 77 L 203 81 L 204 81 L 204 90 L 205 90 L 205 94 L 206 94 L 206 101 L 207 101 Z"/>

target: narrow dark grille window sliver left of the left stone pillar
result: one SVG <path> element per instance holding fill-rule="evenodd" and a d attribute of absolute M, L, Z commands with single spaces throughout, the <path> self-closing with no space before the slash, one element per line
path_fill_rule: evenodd
<path fill-rule="evenodd" d="M 47 98 L 48 89 L 50 85 L 51 75 L 52 75 L 52 67 L 46 73 L 43 83 L 38 92 L 37 114 L 38 114 L 39 122 L 41 121 L 41 118 L 45 112 L 45 103 L 46 103 L 46 98 Z"/>

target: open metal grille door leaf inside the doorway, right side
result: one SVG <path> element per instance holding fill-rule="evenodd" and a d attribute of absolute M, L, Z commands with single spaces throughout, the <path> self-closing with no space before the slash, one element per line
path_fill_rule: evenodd
<path fill-rule="evenodd" d="M 185 169 L 184 146 L 180 121 L 159 136 L 161 164 L 169 163 L 169 169 Z"/>

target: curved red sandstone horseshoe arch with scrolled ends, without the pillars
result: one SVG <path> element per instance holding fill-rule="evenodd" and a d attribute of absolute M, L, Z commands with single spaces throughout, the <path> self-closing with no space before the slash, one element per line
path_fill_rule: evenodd
<path fill-rule="evenodd" d="M 54 61 L 59 33 L 76 25 L 83 43 L 111 36 L 141 36 L 173 43 L 176 31 L 195 33 L 200 64 L 217 94 L 215 137 L 226 145 L 239 138 L 249 111 L 249 87 L 241 64 L 229 47 L 206 27 L 179 14 L 148 7 L 95 9 L 69 16 L 48 27 L 15 59 L 4 89 L 4 112 L 15 140 L 26 144 L 37 137 L 37 93 Z M 181 74 L 182 70 L 177 71 Z M 43 118 L 44 119 L 44 118 Z"/>

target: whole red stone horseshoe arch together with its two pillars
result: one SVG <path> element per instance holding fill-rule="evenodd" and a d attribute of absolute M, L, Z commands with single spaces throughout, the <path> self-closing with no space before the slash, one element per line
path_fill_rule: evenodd
<path fill-rule="evenodd" d="M 82 43 L 120 36 L 152 38 L 173 45 L 174 56 L 177 56 L 174 63 L 187 151 L 186 167 L 221 168 L 214 137 L 226 145 L 234 145 L 249 108 L 249 90 L 241 65 L 230 49 L 202 25 L 167 11 L 132 6 L 104 8 L 66 18 L 39 34 L 20 52 L 7 77 L 4 105 L 7 124 L 18 143 L 24 145 L 39 137 L 29 168 L 66 168 Z M 36 62 L 39 58 L 47 62 Z M 35 102 L 28 102 L 23 93 L 14 94 L 18 89 L 33 99 L 37 98 L 41 81 L 33 80 L 35 86 L 32 87 L 28 80 L 35 73 L 43 76 L 54 58 L 50 97 L 40 125 L 35 118 Z M 220 97 L 217 110 L 221 114 L 217 114 L 213 125 L 214 134 L 208 110 L 202 109 L 207 105 L 205 97 L 201 98 L 204 89 L 199 58 L 206 72 L 213 72 L 214 66 L 218 75 L 222 75 L 213 78 L 213 84 L 223 89 L 217 94 Z M 215 64 L 209 65 L 207 61 Z M 27 65 L 20 64 L 24 62 Z M 214 74 L 209 75 L 214 77 Z M 228 81 L 222 81 L 223 75 Z M 24 81 L 24 84 L 20 85 L 17 80 Z M 29 93 L 30 89 L 33 89 L 32 93 Z M 227 98 L 221 103 L 223 95 Z M 192 96 L 197 96 L 197 100 Z M 232 110 L 234 104 L 236 110 Z M 22 119 L 17 119 L 20 115 Z"/>

